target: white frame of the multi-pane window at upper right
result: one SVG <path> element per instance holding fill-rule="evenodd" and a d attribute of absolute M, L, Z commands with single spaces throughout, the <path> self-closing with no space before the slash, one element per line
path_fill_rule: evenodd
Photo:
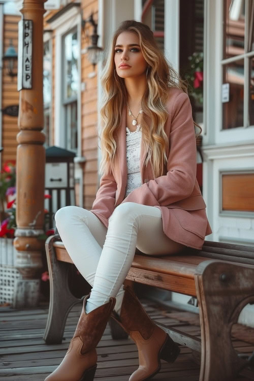
<path fill-rule="evenodd" d="M 254 142 L 254 125 L 247 126 L 247 109 L 244 108 L 244 126 L 234 129 L 222 129 L 223 103 L 221 102 L 221 85 L 223 84 L 223 63 L 230 59 L 223 59 L 223 8 L 224 2 L 214 0 L 205 1 L 204 9 L 204 125 L 207 126 L 203 144 L 244 144 Z M 248 2 L 249 0 L 246 0 Z M 245 25 L 248 17 L 245 15 Z M 239 55 L 241 58 L 243 55 Z M 244 53 L 252 56 L 252 53 Z M 248 85 L 248 65 L 245 59 L 244 83 Z M 247 86 L 244 86 L 244 97 L 247 99 Z M 246 101 L 245 101 L 246 102 Z"/>

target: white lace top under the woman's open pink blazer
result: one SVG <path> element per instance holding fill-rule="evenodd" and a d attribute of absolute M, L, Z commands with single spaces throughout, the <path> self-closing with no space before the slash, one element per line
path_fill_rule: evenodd
<path fill-rule="evenodd" d="M 126 127 L 127 185 L 124 198 L 132 190 L 142 185 L 140 174 L 141 136 L 140 124 L 137 125 L 137 129 L 133 132 Z"/>

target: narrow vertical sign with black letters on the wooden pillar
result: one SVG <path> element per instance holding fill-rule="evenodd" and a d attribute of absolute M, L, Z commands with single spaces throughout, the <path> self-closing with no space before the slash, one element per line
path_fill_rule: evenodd
<path fill-rule="evenodd" d="M 32 88 L 33 21 L 18 23 L 18 91 Z"/>

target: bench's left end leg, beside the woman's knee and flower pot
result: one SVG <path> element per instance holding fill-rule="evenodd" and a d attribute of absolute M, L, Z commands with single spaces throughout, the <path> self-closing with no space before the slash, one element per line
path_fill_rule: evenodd
<path fill-rule="evenodd" d="M 82 301 L 72 295 L 68 284 L 68 271 L 70 264 L 57 261 L 52 236 L 46 241 L 46 254 L 50 282 L 50 302 L 48 320 L 44 333 L 47 344 L 59 344 L 62 341 L 67 316 L 71 308 Z"/>

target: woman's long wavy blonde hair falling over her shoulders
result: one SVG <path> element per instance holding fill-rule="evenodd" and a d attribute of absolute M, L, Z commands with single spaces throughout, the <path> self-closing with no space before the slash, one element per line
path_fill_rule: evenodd
<path fill-rule="evenodd" d="M 102 72 L 101 82 L 104 95 L 101 106 L 102 161 L 99 173 L 111 172 L 117 149 L 115 135 L 121 125 L 122 110 L 127 100 L 124 79 L 117 75 L 114 62 L 116 39 L 123 31 L 131 31 L 138 35 L 141 51 L 148 63 L 147 88 L 141 100 L 143 110 L 141 125 L 146 152 L 145 165 L 150 161 L 154 177 L 158 177 L 163 174 L 164 165 L 167 163 L 166 149 L 169 141 L 164 131 L 164 125 L 168 117 L 165 108 L 168 89 L 173 86 L 187 93 L 187 85 L 157 46 L 149 26 L 135 20 L 123 21 L 115 31 Z M 148 117 L 151 120 L 149 124 Z M 197 123 L 194 122 L 194 124 L 201 129 Z"/>

